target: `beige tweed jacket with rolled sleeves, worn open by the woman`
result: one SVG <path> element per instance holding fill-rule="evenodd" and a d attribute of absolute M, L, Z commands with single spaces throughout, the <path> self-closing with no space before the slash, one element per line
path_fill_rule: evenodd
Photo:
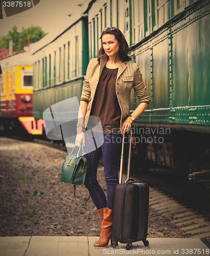
<path fill-rule="evenodd" d="M 101 56 L 100 63 L 97 61 L 97 58 L 93 58 L 89 62 L 85 80 L 83 81 L 81 96 L 81 98 L 89 101 L 86 116 L 90 116 L 97 84 L 107 60 L 108 56 L 104 54 Z M 122 127 L 123 121 L 130 115 L 129 98 L 132 88 L 140 100 L 140 103 L 151 101 L 148 97 L 137 63 L 120 61 L 116 79 L 116 95 L 121 109 L 120 127 Z"/>

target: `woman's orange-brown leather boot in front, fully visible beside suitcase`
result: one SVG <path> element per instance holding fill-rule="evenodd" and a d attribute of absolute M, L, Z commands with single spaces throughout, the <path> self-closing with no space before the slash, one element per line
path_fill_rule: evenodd
<path fill-rule="evenodd" d="M 100 238 L 94 243 L 95 248 L 107 248 L 112 237 L 113 210 L 103 208 L 103 220 L 101 222 Z"/>

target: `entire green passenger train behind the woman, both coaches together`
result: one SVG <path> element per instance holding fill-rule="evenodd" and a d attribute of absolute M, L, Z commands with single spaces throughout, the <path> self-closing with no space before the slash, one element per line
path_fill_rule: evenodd
<path fill-rule="evenodd" d="M 138 161 L 209 184 L 209 24 L 210 0 L 86 0 L 66 29 L 34 44 L 34 117 L 61 100 L 80 99 L 102 29 L 118 27 L 152 99 L 133 123 Z M 132 93 L 130 109 L 138 103 Z"/>

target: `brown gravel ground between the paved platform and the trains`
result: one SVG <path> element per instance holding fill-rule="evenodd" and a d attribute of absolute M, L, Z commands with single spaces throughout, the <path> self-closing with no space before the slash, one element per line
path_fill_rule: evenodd
<path fill-rule="evenodd" d="M 60 181 L 67 153 L 32 142 L 0 137 L 0 236 L 99 236 L 100 218 L 90 199 L 77 205 L 73 186 Z M 103 166 L 98 181 L 106 192 Z M 78 202 L 88 198 L 77 186 Z M 148 237 L 187 237 L 170 217 L 149 208 Z"/>

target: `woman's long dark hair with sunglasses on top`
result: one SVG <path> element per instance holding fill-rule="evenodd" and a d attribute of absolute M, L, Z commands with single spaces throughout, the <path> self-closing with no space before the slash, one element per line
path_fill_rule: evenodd
<path fill-rule="evenodd" d="M 104 51 L 103 45 L 102 45 L 102 36 L 106 35 L 106 34 L 114 35 L 115 39 L 117 39 L 117 41 L 119 42 L 120 46 L 119 46 L 118 56 L 119 56 L 120 60 L 121 61 L 132 60 L 132 58 L 127 55 L 129 52 L 129 47 L 128 47 L 128 44 L 127 44 L 127 41 L 126 41 L 124 35 L 118 28 L 115 28 L 115 29 L 113 29 L 113 28 L 114 27 L 111 27 L 111 28 L 108 28 L 105 31 L 103 31 L 99 38 L 99 39 L 101 39 L 101 48 L 98 51 L 98 61 L 100 62 L 100 56 L 106 53 Z"/>

